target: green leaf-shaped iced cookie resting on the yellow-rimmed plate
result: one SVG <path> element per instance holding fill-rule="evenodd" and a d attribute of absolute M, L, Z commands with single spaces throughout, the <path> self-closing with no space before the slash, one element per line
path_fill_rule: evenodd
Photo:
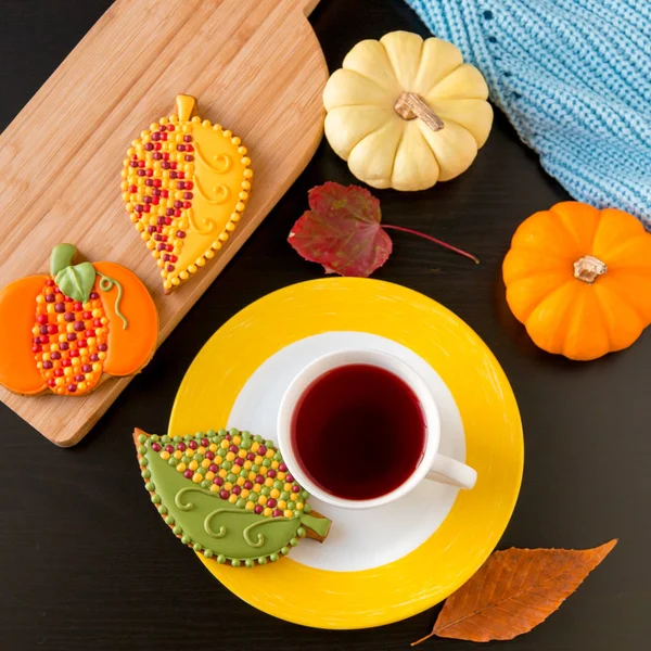
<path fill-rule="evenodd" d="M 219 563 L 253 567 L 286 556 L 330 521 L 311 513 L 272 442 L 248 432 L 149 435 L 133 441 L 145 488 L 175 535 Z"/>

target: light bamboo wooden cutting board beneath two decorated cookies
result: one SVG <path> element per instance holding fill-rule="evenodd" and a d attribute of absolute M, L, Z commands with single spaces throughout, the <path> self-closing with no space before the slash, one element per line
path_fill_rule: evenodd
<path fill-rule="evenodd" d="M 52 247 L 72 242 L 84 259 L 120 263 L 143 280 L 158 308 L 159 345 L 319 144 L 328 67 L 306 20 L 318 2 L 117 0 L 0 136 L 0 286 L 47 271 Z M 131 140 L 174 113 L 179 93 L 197 98 L 202 117 L 242 138 L 255 176 L 226 246 L 165 296 L 125 210 L 120 170 Z M 129 380 L 108 379 L 78 398 L 2 387 L 0 398 L 50 441 L 71 446 Z"/>

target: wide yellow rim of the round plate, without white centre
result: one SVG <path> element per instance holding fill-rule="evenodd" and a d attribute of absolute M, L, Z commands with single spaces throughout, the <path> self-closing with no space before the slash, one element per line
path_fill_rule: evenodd
<path fill-rule="evenodd" d="M 169 433 L 226 425 L 241 388 L 266 359 L 293 342 L 328 331 L 385 336 L 436 369 L 461 412 L 467 462 L 477 471 L 476 486 L 459 494 L 448 516 L 423 545 L 372 570 L 316 570 L 291 557 L 244 570 L 197 556 L 227 588 L 270 615 L 318 628 L 366 628 L 438 603 L 486 560 L 520 490 L 522 425 L 503 371 L 461 319 L 400 285 L 345 278 L 285 288 L 230 319 L 183 378 Z M 388 524 L 386 533 L 391 535 Z"/>

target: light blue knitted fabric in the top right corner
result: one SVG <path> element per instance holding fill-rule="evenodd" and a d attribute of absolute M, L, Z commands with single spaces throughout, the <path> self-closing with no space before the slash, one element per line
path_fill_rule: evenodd
<path fill-rule="evenodd" d="M 579 201 L 651 229 L 650 0 L 406 0 Z"/>

